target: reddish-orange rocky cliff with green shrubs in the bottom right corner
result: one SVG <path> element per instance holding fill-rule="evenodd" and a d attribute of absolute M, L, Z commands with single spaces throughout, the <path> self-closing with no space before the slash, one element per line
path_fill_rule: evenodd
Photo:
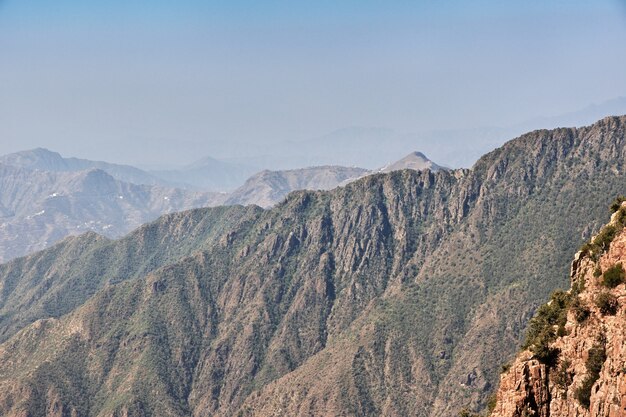
<path fill-rule="evenodd" d="M 625 216 L 622 205 L 576 255 L 565 298 L 553 297 L 533 319 L 566 299 L 547 329 L 555 335 L 535 339 L 502 375 L 492 417 L 626 415 Z"/>

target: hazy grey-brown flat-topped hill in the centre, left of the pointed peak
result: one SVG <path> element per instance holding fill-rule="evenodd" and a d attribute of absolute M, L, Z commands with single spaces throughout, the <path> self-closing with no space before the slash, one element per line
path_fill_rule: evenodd
<path fill-rule="evenodd" d="M 226 200 L 227 204 L 271 207 L 296 190 L 330 190 L 370 171 L 362 168 L 322 166 L 285 171 L 261 171 L 250 177 Z"/>

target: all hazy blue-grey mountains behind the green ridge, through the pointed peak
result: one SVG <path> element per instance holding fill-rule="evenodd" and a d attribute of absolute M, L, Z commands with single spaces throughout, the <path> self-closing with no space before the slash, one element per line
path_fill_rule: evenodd
<path fill-rule="evenodd" d="M 247 171 L 232 166 L 229 171 L 228 166 L 205 158 L 188 170 L 167 171 L 165 175 L 131 166 L 64 158 L 46 149 L 2 156 L 0 261 L 44 249 L 87 230 L 116 238 L 165 213 L 221 204 L 270 207 L 291 191 L 327 190 L 372 173 L 347 167 L 263 171 L 231 193 L 209 191 L 212 185 L 226 184 L 224 178 L 230 178 L 230 186 L 237 184 L 235 179 L 243 181 Z M 392 166 L 437 167 L 425 156 L 415 154 Z M 222 169 L 223 175 L 214 174 Z"/>

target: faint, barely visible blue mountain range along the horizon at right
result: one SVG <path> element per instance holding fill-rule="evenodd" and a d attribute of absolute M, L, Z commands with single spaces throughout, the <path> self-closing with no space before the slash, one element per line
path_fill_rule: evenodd
<path fill-rule="evenodd" d="M 605 116 L 626 114 L 626 97 L 617 97 L 551 117 L 537 117 L 511 125 L 416 129 L 352 126 L 317 137 L 270 144 L 211 142 L 212 155 L 221 160 L 271 169 L 315 165 L 359 166 L 376 169 L 420 150 L 435 161 L 468 168 L 483 154 L 508 139 L 537 129 L 585 126 Z M 202 144 L 198 144 L 199 147 Z"/>

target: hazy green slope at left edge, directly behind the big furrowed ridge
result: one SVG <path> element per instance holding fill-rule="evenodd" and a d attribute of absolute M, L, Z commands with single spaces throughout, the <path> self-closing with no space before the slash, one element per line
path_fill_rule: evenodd
<path fill-rule="evenodd" d="M 0 265 L 0 341 L 43 317 L 59 317 L 105 285 L 138 278 L 254 220 L 261 209 L 219 207 L 163 216 L 119 241 L 90 232 Z"/>

